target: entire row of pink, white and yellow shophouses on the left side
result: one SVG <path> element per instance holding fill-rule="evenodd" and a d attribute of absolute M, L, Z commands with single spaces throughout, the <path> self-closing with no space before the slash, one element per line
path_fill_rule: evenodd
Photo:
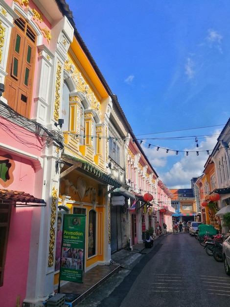
<path fill-rule="evenodd" d="M 64 214 L 86 215 L 89 271 L 174 209 L 65 1 L 0 0 L 0 30 L 0 306 L 32 307 L 57 289 Z"/>

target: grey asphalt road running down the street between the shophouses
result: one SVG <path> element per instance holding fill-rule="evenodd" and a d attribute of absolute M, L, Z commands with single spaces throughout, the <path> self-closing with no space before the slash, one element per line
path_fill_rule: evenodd
<path fill-rule="evenodd" d="M 230 277 L 188 233 L 161 236 L 129 272 L 117 273 L 84 307 L 227 307 Z"/>

